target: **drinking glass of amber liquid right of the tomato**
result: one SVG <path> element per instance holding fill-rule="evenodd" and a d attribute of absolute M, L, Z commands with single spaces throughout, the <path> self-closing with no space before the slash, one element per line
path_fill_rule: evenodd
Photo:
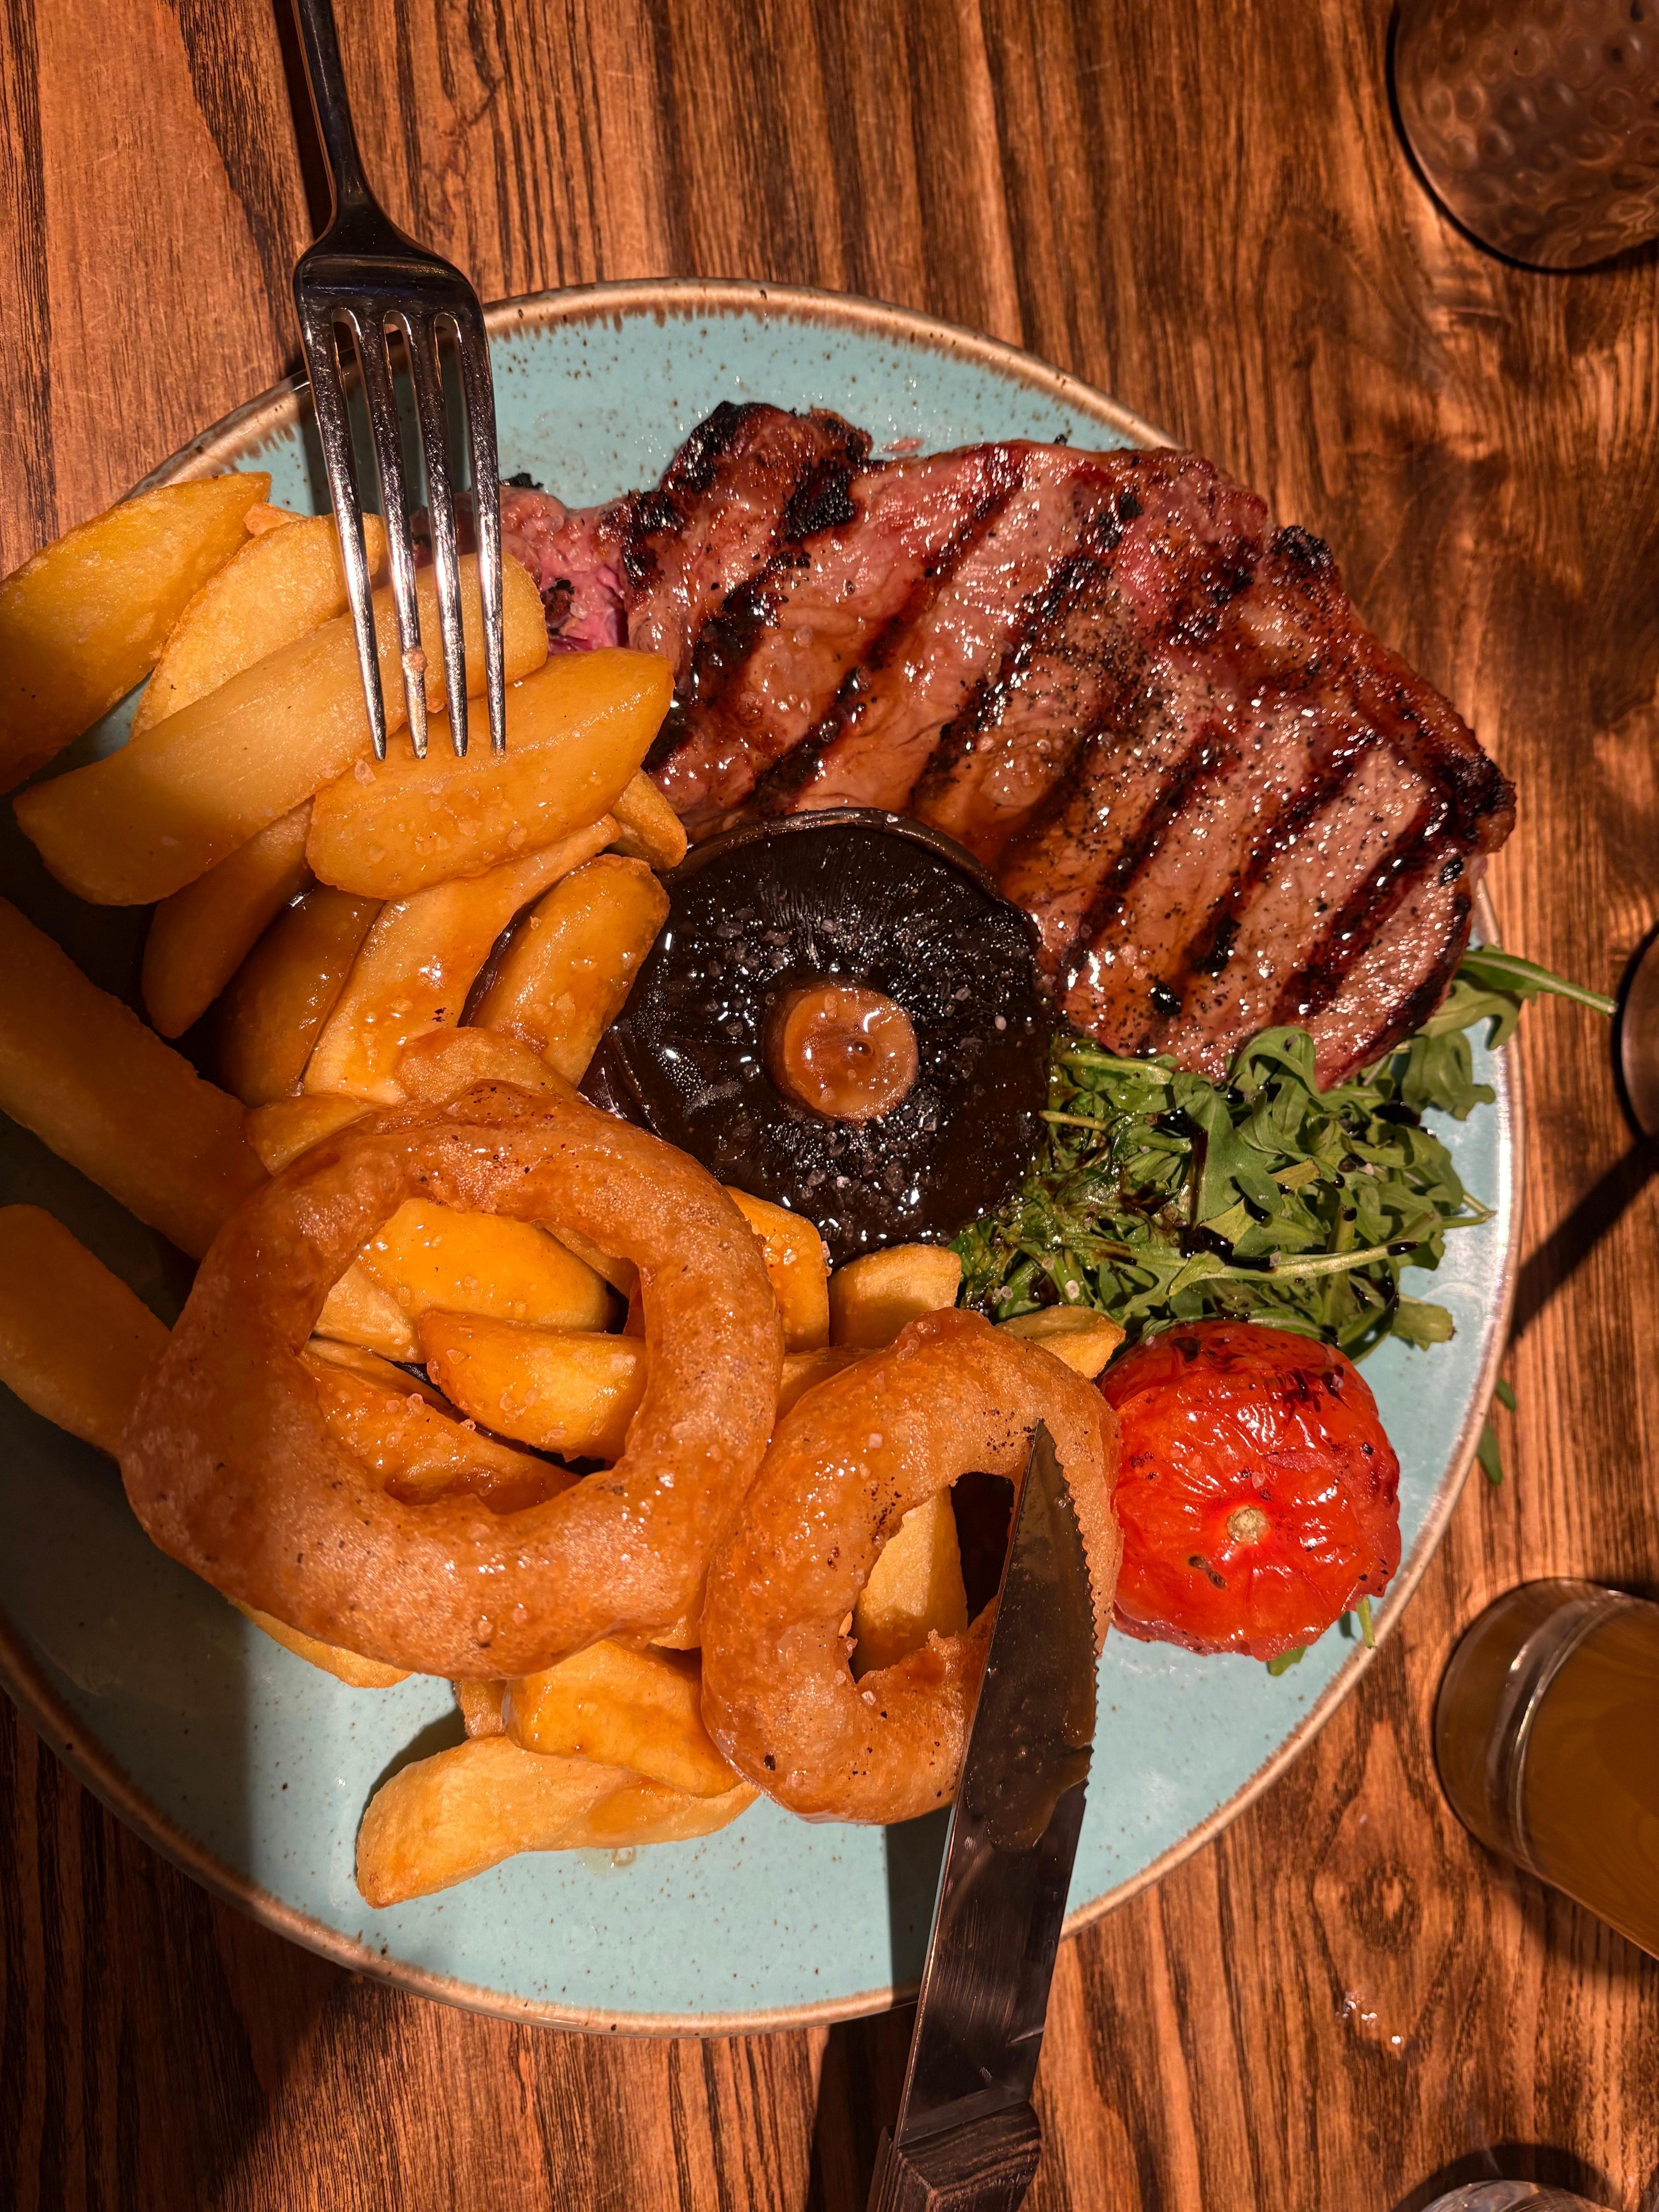
<path fill-rule="evenodd" d="M 1659 1958 L 1659 1606 L 1509 1590 L 1451 1655 L 1433 1752 L 1464 1827 Z"/>

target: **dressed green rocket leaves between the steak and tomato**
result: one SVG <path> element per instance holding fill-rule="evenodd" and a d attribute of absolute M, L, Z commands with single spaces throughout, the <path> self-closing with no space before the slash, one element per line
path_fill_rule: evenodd
<path fill-rule="evenodd" d="M 1124 1060 L 1055 1037 L 1048 1139 L 1024 1186 L 958 1239 L 962 1301 L 1004 1321 L 1093 1305 L 1135 1340 L 1172 1321 L 1265 1321 L 1360 1360 L 1387 1336 L 1451 1336 L 1444 1305 L 1400 1287 L 1447 1237 L 1491 1221 L 1429 1110 L 1491 1104 L 1469 1033 L 1504 1044 L 1522 1006 L 1557 993 L 1615 1002 L 1495 945 L 1471 949 L 1422 1031 L 1354 1082 L 1321 1091 L 1314 1040 L 1267 1029 L 1225 1082 L 1168 1057 Z"/>

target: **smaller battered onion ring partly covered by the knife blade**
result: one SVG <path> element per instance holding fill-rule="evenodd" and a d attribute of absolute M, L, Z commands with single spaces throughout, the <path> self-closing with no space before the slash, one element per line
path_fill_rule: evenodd
<path fill-rule="evenodd" d="M 914 1820 L 956 1792 L 995 1604 L 854 1681 L 843 1624 L 900 1520 L 973 1469 L 1022 1482 L 1044 1420 L 1088 1555 L 1095 1648 L 1121 1540 L 1117 1416 L 1093 1385 L 978 1314 L 927 1314 L 785 1416 L 708 1573 L 703 1723 L 807 1820 Z"/>

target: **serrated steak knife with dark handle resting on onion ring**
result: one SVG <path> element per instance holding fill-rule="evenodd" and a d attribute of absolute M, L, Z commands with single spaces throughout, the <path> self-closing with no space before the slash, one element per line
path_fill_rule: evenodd
<path fill-rule="evenodd" d="M 1031 2188 L 1042 2154 L 1031 2084 L 1093 1743 L 1088 1562 L 1037 1427 L 869 2212 L 1015 2212 Z"/>

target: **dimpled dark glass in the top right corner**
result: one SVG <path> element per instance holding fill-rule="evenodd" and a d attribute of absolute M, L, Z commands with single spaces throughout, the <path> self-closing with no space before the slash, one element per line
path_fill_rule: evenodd
<path fill-rule="evenodd" d="M 1500 254 L 1566 270 L 1659 237 L 1659 0 L 1400 0 L 1394 95 Z"/>

